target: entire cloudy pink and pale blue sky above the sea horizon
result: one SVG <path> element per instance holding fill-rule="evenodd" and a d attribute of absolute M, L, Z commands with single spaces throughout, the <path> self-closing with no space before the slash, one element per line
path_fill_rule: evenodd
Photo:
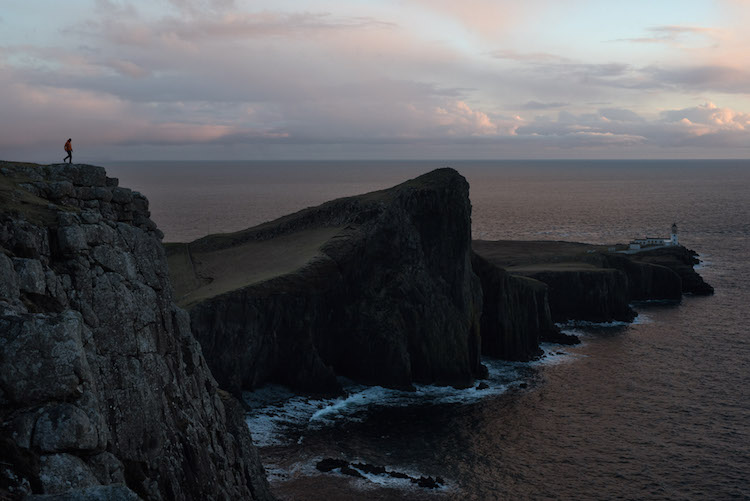
<path fill-rule="evenodd" d="M 750 0 L 0 0 L 0 159 L 750 158 L 748 25 Z"/>

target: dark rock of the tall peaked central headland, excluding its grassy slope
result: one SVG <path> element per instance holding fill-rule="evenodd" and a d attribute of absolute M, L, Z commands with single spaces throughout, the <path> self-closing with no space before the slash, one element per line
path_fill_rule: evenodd
<path fill-rule="evenodd" d="M 392 387 L 468 385 L 484 369 L 470 217 L 468 184 L 454 170 L 439 169 L 389 190 L 192 242 L 176 248 L 170 263 L 189 254 L 187 269 L 197 274 L 179 283 L 215 284 L 216 276 L 201 271 L 212 252 L 336 230 L 301 268 L 186 305 L 209 365 L 233 392 L 265 381 L 335 391 L 335 375 Z M 249 264 L 238 259 L 237 266 Z M 188 287 L 177 294 L 197 292 Z"/>

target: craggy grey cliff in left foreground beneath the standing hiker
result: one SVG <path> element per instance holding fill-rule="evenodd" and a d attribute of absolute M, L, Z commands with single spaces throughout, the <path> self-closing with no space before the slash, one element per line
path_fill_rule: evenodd
<path fill-rule="evenodd" d="M 0 497 L 270 499 L 147 200 L 100 167 L 0 174 Z"/>

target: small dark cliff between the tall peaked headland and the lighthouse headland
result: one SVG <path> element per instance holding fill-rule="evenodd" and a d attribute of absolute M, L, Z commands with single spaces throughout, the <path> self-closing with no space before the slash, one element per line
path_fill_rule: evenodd
<path fill-rule="evenodd" d="M 482 283 L 482 353 L 504 360 L 532 360 L 542 340 L 557 339 L 547 286 L 513 276 L 476 253 L 471 263 Z"/>

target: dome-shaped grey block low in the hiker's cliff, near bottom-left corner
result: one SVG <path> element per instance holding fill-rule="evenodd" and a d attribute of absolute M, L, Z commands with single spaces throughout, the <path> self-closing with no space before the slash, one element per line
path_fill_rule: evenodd
<path fill-rule="evenodd" d="M 86 413 L 62 403 L 45 409 L 36 422 L 32 444 L 42 452 L 94 450 L 99 434 Z"/>

